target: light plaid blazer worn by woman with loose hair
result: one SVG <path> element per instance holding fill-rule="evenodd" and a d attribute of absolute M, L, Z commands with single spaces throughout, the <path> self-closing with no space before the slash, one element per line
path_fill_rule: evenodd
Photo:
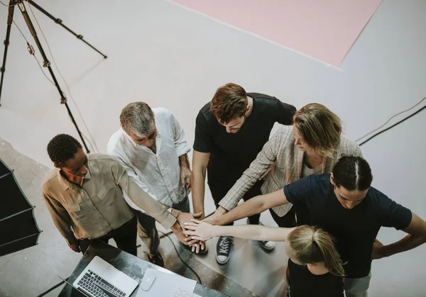
<path fill-rule="evenodd" d="M 291 184 L 293 181 L 300 179 L 302 174 L 303 157 L 302 152 L 295 146 L 295 137 L 293 135 L 293 126 L 283 126 L 273 135 L 271 140 L 263 145 L 261 152 L 258 153 L 256 159 L 251 162 L 249 169 L 243 173 L 238 181 L 228 191 L 226 196 L 222 198 L 219 205 L 230 211 L 235 208 L 244 194 L 260 179 L 262 174 L 276 162 L 275 169 L 266 176 L 266 180 L 262 185 L 263 194 L 272 193 L 283 189 L 285 185 Z M 342 155 L 353 155 L 362 157 L 361 149 L 355 142 L 342 136 L 339 147 L 334 152 L 333 157 L 324 157 L 322 163 L 322 173 L 332 172 L 334 164 Z M 273 208 L 275 213 L 282 217 L 293 206 L 288 203 Z"/>

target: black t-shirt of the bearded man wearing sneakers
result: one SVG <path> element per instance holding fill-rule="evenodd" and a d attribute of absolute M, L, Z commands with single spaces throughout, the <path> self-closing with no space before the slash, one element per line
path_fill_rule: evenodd
<path fill-rule="evenodd" d="M 264 94 L 247 95 L 253 98 L 253 110 L 238 133 L 226 133 L 210 111 L 210 103 L 198 113 L 194 150 L 210 153 L 209 183 L 233 186 L 269 140 L 274 123 L 293 123 L 294 106 Z"/>

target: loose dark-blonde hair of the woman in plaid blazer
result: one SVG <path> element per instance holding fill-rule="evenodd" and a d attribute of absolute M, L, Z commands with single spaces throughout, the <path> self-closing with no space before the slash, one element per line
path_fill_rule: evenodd
<path fill-rule="evenodd" d="M 310 103 L 295 113 L 293 121 L 309 146 L 310 155 L 332 157 L 342 134 L 342 122 L 337 114 L 320 103 Z"/>

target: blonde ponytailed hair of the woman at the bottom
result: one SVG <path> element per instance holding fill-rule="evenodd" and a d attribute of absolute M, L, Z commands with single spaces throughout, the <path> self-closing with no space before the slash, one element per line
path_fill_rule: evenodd
<path fill-rule="evenodd" d="M 330 273 L 344 276 L 343 262 L 334 246 L 334 238 L 320 228 L 302 225 L 288 235 L 295 258 L 302 264 L 324 262 Z"/>

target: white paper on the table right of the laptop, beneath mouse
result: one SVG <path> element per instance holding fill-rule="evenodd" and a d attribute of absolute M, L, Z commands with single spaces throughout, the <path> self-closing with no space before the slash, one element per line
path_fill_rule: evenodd
<path fill-rule="evenodd" d="M 155 280 L 149 289 L 149 291 L 143 291 L 139 289 L 136 297 L 173 297 L 173 294 L 178 288 L 182 288 L 184 291 L 193 292 L 197 281 L 187 279 L 173 272 L 163 271 L 148 268 L 146 271 L 150 271 L 151 274 L 155 275 Z"/>

